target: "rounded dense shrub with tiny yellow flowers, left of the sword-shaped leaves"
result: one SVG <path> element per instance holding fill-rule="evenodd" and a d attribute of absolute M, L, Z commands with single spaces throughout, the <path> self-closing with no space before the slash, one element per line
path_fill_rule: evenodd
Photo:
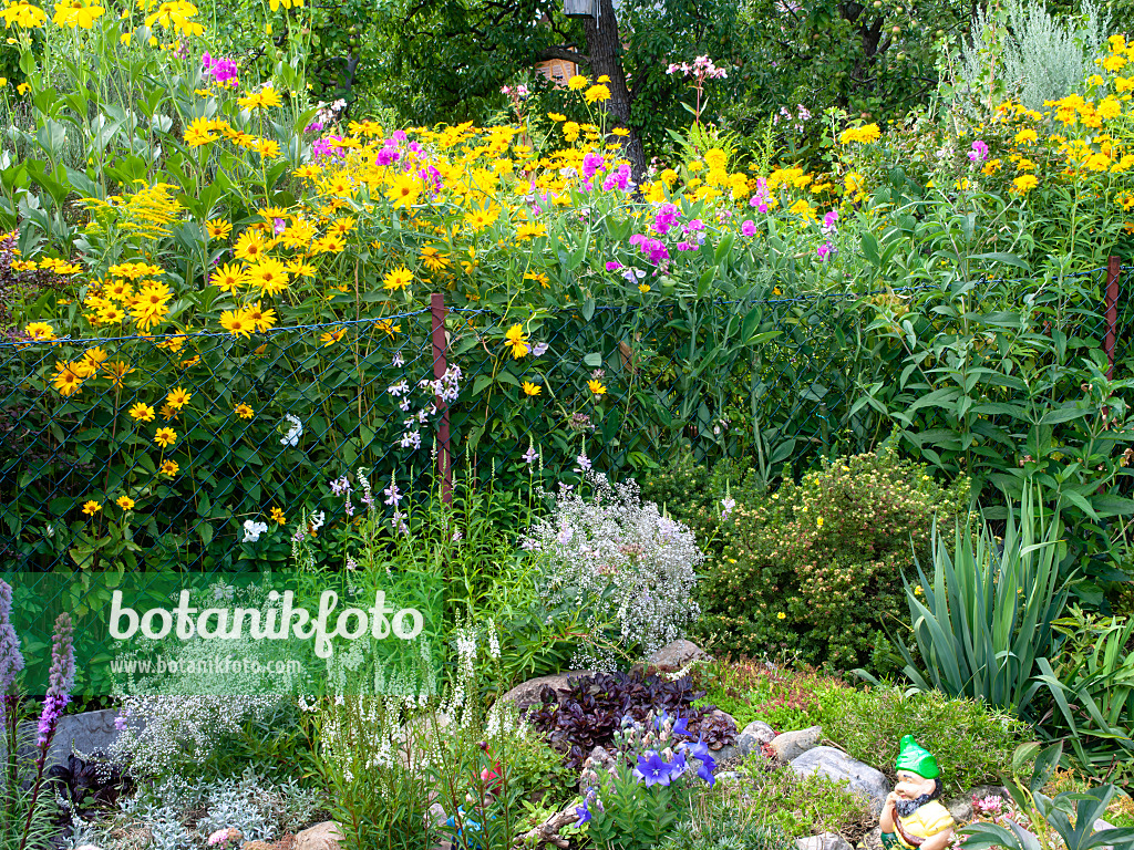
<path fill-rule="evenodd" d="M 738 503 L 702 581 L 701 628 L 742 655 L 886 671 L 886 627 L 906 614 L 903 573 L 951 524 L 967 479 L 945 487 L 891 449 L 843 458 Z M 912 544 L 912 545 L 911 545 Z"/>

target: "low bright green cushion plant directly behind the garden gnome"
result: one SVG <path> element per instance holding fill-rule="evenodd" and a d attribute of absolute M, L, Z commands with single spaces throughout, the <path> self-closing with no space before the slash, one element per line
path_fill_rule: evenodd
<path fill-rule="evenodd" d="M 1029 729 L 983 703 L 934 691 L 906 694 L 895 687 L 829 691 L 821 725 L 826 738 L 891 780 L 898 742 L 912 734 L 937 756 L 946 796 L 998 784 Z"/>

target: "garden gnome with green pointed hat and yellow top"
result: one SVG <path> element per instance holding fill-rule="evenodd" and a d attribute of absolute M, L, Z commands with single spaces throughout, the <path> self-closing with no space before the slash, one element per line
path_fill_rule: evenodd
<path fill-rule="evenodd" d="M 913 736 L 902 739 L 895 765 L 898 783 L 886 804 L 879 826 L 886 850 L 945 850 L 953 841 L 956 822 L 940 804 L 941 768 L 933 754 Z"/>

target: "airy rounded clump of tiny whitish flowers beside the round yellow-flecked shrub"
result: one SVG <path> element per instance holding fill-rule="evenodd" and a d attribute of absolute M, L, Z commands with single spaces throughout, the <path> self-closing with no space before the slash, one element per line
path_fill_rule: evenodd
<path fill-rule="evenodd" d="M 585 484 L 590 496 L 561 487 L 555 510 L 524 542 L 542 559 L 540 593 L 553 610 L 586 611 L 595 637 L 649 655 L 696 620 L 704 555 L 693 532 L 642 502 L 633 481 L 589 473 Z M 591 644 L 573 663 L 610 669 L 610 644 Z"/>

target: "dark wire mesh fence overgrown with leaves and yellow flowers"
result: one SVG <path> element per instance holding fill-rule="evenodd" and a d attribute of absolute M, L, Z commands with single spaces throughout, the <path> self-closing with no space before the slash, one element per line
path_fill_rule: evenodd
<path fill-rule="evenodd" d="M 1044 332 L 1101 346 L 1106 271 L 1080 275 L 1083 297 L 1053 305 Z M 379 500 L 391 476 L 429 487 L 439 453 L 465 474 L 549 486 L 586 465 L 633 474 L 679 447 L 798 469 L 885 435 L 863 403 L 896 380 L 878 316 L 915 297 L 934 296 L 591 305 L 518 329 L 435 301 L 252 338 L 0 343 L 0 560 L 285 561 L 301 515 L 347 519 L 331 482 L 353 476 L 357 493 L 364 470 Z M 1125 363 L 1128 303 L 1117 317 Z"/>

